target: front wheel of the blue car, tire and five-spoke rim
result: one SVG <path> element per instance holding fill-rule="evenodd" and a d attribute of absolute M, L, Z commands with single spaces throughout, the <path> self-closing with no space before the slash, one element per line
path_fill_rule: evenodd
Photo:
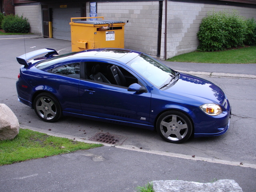
<path fill-rule="evenodd" d="M 170 110 L 159 116 L 156 130 L 167 142 L 182 143 L 190 138 L 193 123 L 183 112 Z"/>

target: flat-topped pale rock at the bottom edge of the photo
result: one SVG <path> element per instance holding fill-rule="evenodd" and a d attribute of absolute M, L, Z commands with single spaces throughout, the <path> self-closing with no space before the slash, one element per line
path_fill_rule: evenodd
<path fill-rule="evenodd" d="M 229 179 L 213 183 L 198 183 L 180 180 L 152 181 L 155 192 L 243 192 L 242 188 Z"/>

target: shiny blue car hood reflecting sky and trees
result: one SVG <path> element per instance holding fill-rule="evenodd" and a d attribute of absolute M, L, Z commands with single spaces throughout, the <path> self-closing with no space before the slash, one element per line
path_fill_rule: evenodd
<path fill-rule="evenodd" d="M 224 92 L 212 82 L 184 73 L 180 73 L 180 78 L 175 84 L 164 91 L 202 103 L 222 104 L 225 100 Z"/>

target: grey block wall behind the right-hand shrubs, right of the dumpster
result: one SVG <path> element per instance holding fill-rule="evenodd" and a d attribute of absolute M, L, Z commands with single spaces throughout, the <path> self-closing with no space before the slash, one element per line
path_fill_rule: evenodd
<path fill-rule="evenodd" d="M 216 12 L 237 10 L 241 16 L 256 19 L 255 8 L 168 1 L 167 58 L 196 50 L 199 44 L 196 33 L 199 31 L 202 18 L 213 9 Z M 162 33 L 164 33 L 164 18 L 163 16 Z M 162 35 L 161 58 L 163 56 L 164 36 Z"/>

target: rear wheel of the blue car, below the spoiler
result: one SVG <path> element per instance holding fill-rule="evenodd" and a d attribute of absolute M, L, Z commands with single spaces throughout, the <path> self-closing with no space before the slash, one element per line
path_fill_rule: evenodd
<path fill-rule="evenodd" d="M 48 93 L 41 93 L 36 96 L 34 110 L 38 117 L 46 122 L 55 122 L 62 114 L 60 103 Z"/>

